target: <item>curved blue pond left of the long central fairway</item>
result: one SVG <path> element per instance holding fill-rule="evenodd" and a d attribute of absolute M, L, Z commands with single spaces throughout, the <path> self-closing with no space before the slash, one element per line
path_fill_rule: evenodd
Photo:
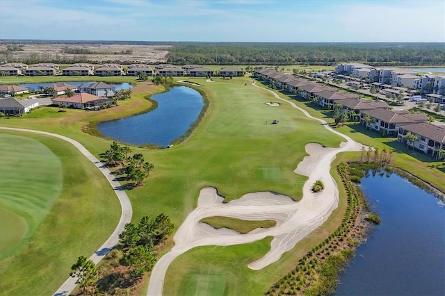
<path fill-rule="evenodd" d="M 152 99 L 158 101 L 156 109 L 122 120 L 102 122 L 97 129 L 107 137 L 132 145 L 166 147 L 186 133 L 204 106 L 201 94 L 186 86 L 170 88 Z"/>

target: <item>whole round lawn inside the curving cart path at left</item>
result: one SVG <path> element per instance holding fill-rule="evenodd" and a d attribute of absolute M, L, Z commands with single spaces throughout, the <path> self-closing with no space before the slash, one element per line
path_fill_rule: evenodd
<path fill-rule="evenodd" d="M 51 295 L 76 258 L 90 256 L 113 232 L 118 198 L 102 173 L 63 140 L 2 130 L 0 151 L 1 207 L 15 213 L 6 223 L 23 216 L 29 226 L 22 245 L 0 261 L 0 294 Z"/>

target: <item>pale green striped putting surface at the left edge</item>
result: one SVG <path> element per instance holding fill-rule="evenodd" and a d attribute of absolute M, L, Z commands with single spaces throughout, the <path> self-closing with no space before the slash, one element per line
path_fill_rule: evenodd
<path fill-rule="evenodd" d="M 38 140 L 0 134 L 0 258 L 30 238 L 62 189 L 58 157 Z"/>

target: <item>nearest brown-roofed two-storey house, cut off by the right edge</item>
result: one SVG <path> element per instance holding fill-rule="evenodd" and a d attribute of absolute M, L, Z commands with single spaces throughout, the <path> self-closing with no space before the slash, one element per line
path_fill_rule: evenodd
<path fill-rule="evenodd" d="M 417 140 L 407 143 L 407 133 L 416 135 Z M 439 149 L 445 149 L 445 127 L 436 126 L 427 122 L 405 124 L 398 129 L 397 140 L 411 145 L 425 154 L 437 157 Z"/>

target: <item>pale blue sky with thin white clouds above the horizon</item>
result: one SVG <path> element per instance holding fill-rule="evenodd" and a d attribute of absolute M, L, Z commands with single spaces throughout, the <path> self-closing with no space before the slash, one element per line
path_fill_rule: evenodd
<path fill-rule="evenodd" d="M 445 1 L 0 0 L 0 39 L 445 42 Z"/>

